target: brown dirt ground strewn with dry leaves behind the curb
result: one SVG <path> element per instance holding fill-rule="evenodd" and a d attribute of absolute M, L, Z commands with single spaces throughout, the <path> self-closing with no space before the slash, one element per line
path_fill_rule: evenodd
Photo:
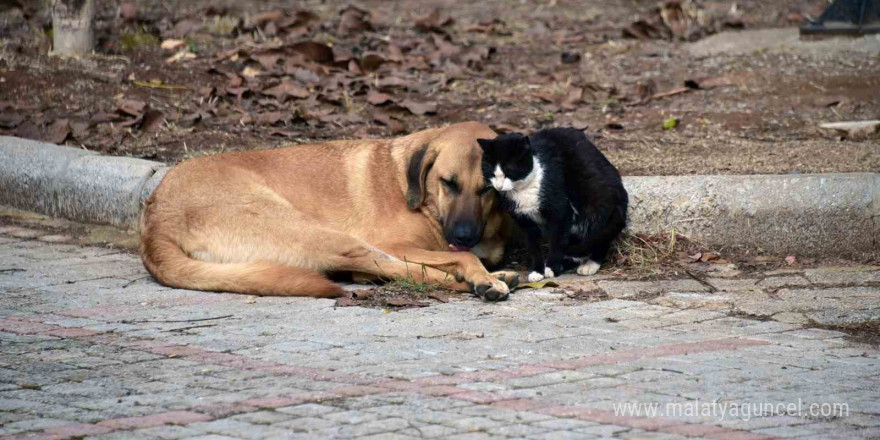
<path fill-rule="evenodd" d="M 692 50 L 825 0 L 96 3 L 84 59 L 0 11 L 0 134 L 175 163 L 474 119 L 583 128 L 625 175 L 880 170 L 876 138 L 817 127 L 880 115 L 876 56 Z"/>

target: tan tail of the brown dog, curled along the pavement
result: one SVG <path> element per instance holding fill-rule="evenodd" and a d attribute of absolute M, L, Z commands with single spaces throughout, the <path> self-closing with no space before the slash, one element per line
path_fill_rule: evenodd
<path fill-rule="evenodd" d="M 160 283 L 181 289 L 260 296 L 334 298 L 343 289 L 320 272 L 268 261 L 209 263 L 190 258 L 173 240 L 147 234 L 141 259 Z"/>

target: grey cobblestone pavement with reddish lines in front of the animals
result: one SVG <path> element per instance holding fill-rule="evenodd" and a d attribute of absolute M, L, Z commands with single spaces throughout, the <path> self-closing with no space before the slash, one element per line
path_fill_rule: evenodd
<path fill-rule="evenodd" d="M 880 351 L 803 328 L 877 319 L 876 268 L 389 312 L 170 289 L 4 233 L 2 440 L 880 438 Z"/>

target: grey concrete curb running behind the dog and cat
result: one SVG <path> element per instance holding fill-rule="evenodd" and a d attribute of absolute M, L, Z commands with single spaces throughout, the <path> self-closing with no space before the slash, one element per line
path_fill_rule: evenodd
<path fill-rule="evenodd" d="M 0 136 L 0 204 L 89 223 L 137 226 L 168 171 Z M 877 258 L 880 174 L 626 177 L 630 229 L 774 254 Z"/>

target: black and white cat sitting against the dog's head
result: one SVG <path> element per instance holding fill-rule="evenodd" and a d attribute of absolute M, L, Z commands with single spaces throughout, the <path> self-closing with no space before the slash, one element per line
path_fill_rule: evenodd
<path fill-rule="evenodd" d="M 529 282 L 575 267 L 596 273 L 626 226 L 629 198 L 617 168 L 574 128 L 477 141 L 486 181 L 528 237 Z M 550 242 L 546 260 L 542 237 Z"/>

